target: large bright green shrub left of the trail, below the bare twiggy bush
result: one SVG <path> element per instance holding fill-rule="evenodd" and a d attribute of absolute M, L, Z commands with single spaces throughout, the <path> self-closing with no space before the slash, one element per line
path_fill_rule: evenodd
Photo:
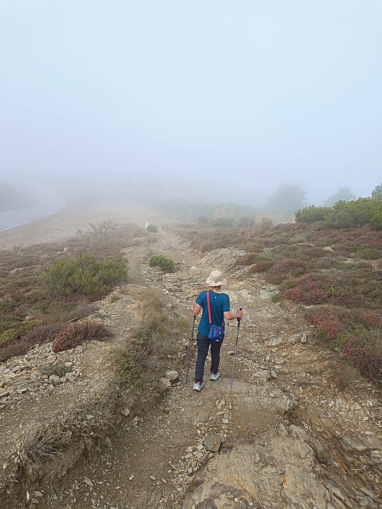
<path fill-rule="evenodd" d="M 43 275 L 45 288 L 53 295 L 102 293 L 127 276 L 121 258 L 102 259 L 94 253 L 51 262 Z"/>

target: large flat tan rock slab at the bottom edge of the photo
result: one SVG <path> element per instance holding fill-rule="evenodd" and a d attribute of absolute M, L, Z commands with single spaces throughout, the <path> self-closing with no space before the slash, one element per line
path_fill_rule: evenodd
<path fill-rule="evenodd" d="M 238 445 L 212 459 L 197 473 L 183 509 L 250 504 L 278 509 L 329 508 L 330 493 L 316 466 L 306 433 L 280 425 L 276 435 L 271 432 L 251 445 Z"/>

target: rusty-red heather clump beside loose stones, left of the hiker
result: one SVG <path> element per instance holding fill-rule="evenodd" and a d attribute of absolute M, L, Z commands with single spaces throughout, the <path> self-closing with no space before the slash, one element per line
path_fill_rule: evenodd
<path fill-rule="evenodd" d="M 85 322 L 69 325 L 68 328 L 57 334 L 52 344 L 53 352 L 62 352 L 81 345 L 86 340 L 100 340 L 109 333 L 102 323 Z"/>

